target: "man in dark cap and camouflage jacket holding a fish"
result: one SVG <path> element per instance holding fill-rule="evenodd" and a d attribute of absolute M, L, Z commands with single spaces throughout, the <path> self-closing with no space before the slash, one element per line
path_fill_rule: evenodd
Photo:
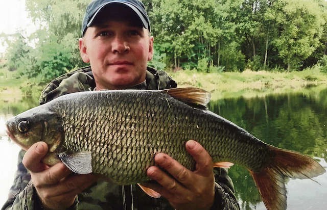
<path fill-rule="evenodd" d="M 77 91 L 176 87 L 165 72 L 147 67 L 153 57 L 150 30 L 148 15 L 138 0 L 90 3 L 79 39 L 81 57 L 90 67 L 58 77 L 43 90 L 40 103 Z M 226 171 L 219 169 L 215 182 L 212 159 L 205 149 L 193 140 L 185 148 L 196 161 L 196 170 L 189 171 L 167 154 L 156 154 L 154 160 L 163 170 L 150 167 L 147 175 L 157 183 L 146 187 L 161 198 L 152 198 L 135 185 L 118 186 L 94 174 L 73 174 L 62 163 L 46 166 L 42 158 L 48 146 L 36 143 L 19 164 L 3 209 L 239 208 Z"/>

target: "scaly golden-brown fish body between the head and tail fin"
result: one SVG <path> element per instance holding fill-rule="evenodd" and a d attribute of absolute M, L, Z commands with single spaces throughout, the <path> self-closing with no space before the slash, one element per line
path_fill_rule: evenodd
<path fill-rule="evenodd" d="M 259 171 L 269 159 L 267 145 L 244 129 L 162 92 L 92 93 L 62 98 L 64 109 L 56 111 L 64 130 L 61 150 L 91 151 L 92 170 L 115 182 L 148 180 L 146 169 L 154 165 L 158 152 L 193 169 L 184 148 L 190 139 L 203 145 L 214 162 L 230 161 Z"/>

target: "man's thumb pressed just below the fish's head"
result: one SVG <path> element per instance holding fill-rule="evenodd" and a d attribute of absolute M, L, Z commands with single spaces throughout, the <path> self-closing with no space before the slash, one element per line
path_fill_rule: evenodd
<path fill-rule="evenodd" d="M 34 173 L 43 171 L 46 165 L 41 160 L 47 152 L 48 145 L 45 142 L 36 142 L 26 151 L 22 164 Z"/>

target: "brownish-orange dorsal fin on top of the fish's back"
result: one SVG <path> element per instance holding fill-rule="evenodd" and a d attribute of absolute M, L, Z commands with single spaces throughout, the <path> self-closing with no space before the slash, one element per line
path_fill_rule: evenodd
<path fill-rule="evenodd" d="M 172 88 L 160 90 L 162 93 L 169 94 L 177 100 L 183 101 L 190 106 L 206 109 L 210 101 L 211 94 L 200 88 Z"/>

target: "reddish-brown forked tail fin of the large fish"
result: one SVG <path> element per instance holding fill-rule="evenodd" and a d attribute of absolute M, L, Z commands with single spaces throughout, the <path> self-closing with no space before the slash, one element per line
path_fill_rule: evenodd
<path fill-rule="evenodd" d="M 261 172 L 250 171 L 267 209 L 286 209 L 285 177 L 312 178 L 325 169 L 303 154 L 271 146 L 271 163 Z"/>

